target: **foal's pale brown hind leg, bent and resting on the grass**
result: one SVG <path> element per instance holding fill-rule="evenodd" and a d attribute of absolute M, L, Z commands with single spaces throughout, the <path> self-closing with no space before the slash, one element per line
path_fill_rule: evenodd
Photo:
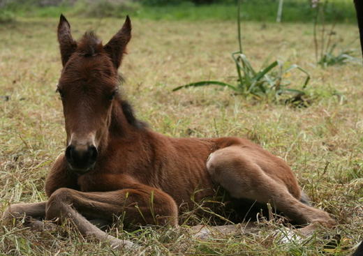
<path fill-rule="evenodd" d="M 278 179 L 277 175 L 272 175 L 281 170 L 265 172 L 256 160 L 255 156 L 259 156 L 258 153 L 251 154 L 251 149 L 249 150 L 246 151 L 241 146 L 228 146 L 212 153 L 207 161 L 207 170 L 213 181 L 228 190 L 232 197 L 252 199 L 261 203 L 270 202 L 299 224 L 334 223 L 325 211 L 303 204 L 292 196 L 288 184 Z M 271 163 L 274 160 L 272 156 L 267 162 Z M 311 229 L 313 226 L 301 230 L 308 233 Z"/>

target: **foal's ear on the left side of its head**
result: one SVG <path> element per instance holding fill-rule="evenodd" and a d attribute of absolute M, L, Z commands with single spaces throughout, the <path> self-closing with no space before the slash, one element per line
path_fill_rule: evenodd
<path fill-rule="evenodd" d="M 59 18 L 58 42 L 61 50 L 61 63 L 65 66 L 69 57 L 75 52 L 77 43 L 72 38 L 71 25 L 63 14 L 61 14 L 61 17 Z"/>

